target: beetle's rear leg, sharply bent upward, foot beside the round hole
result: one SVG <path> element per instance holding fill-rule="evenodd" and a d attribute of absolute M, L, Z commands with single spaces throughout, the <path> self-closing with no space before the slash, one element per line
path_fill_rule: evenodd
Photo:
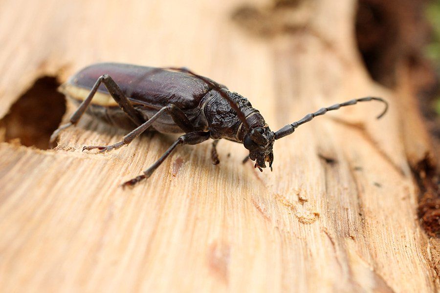
<path fill-rule="evenodd" d="M 103 83 L 107 87 L 110 96 L 113 98 L 113 100 L 116 101 L 116 103 L 132 119 L 132 121 L 136 125 L 141 125 L 142 123 L 145 122 L 142 116 L 139 114 L 139 112 L 136 111 L 136 109 L 134 109 L 129 99 L 127 99 L 127 97 L 124 95 L 124 92 L 121 90 L 121 88 L 114 82 L 114 80 L 108 74 L 104 74 L 98 78 L 98 80 L 90 90 L 90 93 L 88 94 L 87 98 L 81 103 L 81 105 L 79 105 L 78 109 L 76 109 L 76 111 L 70 117 L 69 122 L 58 127 L 58 129 L 52 133 L 49 141 L 50 145 L 53 145 L 53 143 L 55 142 L 55 140 L 57 139 L 58 135 L 62 130 L 66 129 L 69 126 L 76 125 L 78 123 L 81 116 L 83 116 L 88 105 L 93 99 L 93 96 L 95 95 L 101 83 Z"/>

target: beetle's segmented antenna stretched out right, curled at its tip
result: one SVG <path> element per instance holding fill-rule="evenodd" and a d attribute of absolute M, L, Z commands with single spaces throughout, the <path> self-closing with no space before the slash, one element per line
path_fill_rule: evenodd
<path fill-rule="evenodd" d="M 314 117 L 316 116 L 320 116 L 320 115 L 324 115 L 325 113 L 327 113 L 327 111 L 331 111 L 331 110 L 337 110 L 340 107 L 345 107 L 345 106 L 349 106 L 349 105 L 354 105 L 357 102 L 368 102 L 368 101 L 379 101 L 385 104 L 385 109 L 383 110 L 383 112 L 377 116 L 377 119 L 380 119 L 383 117 L 383 115 L 385 115 L 385 113 L 388 110 L 388 102 L 385 101 L 382 98 L 376 98 L 376 97 L 366 97 L 366 98 L 360 98 L 360 99 L 354 99 L 354 100 L 350 100 L 347 101 L 345 103 L 341 103 L 341 104 L 335 104 L 332 105 L 330 107 L 327 108 L 321 108 L 318 111 L 314 112 L 314 113 L 310 113 L 307 114 L 306 116 L 304 116 L 303 119 L 298 120 L 292 124 L 287 124 L 286 126 L 282 127 L 281 129 L 279 129 L 277 132 L 275 132 L 275 139 L 280 139 L 282 137 L 285 137 L 289 134 L 292 134 L 293 131 L 295 131 L 295 128 L 297 128 L 298 126 L 305 124 L 307 122 L 309 122 L 310 120 L 312 120 Z"/>

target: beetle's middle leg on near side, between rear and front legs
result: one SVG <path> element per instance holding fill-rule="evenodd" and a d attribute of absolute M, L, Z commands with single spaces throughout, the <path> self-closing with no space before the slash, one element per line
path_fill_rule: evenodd
<path fill-rule="evenodd" d="M 135 128 L 132 132 L 124 136 L 123 140 L 120 142 L 117 142 L 116 144 L 110 145 L 110 146 L 84 146 L 84 150 L 91 150 L 94 148 L 97 148 L 100 150 L 100 152 L 106 152 L 112 149 L 118 149 L 121 146 L 130 144 L 136 137 L 138 137 L 140 134 L 142 134 L 145 130 L 147 130 L 154 121 L 157 120 L 161 115 L 164 113 L 167 113 L 171 116 L 173 121 L 183 130 L 185 133 L 193 132 L 194 126 L 191 124 L 191 122 L 186 117 L 185 113 L 178 108 L 174 104 L 168 104 L 164 107 L 162 107 L 159 111 L 157 111 L 148 121 L 143 123 L 142 125 Z"/>

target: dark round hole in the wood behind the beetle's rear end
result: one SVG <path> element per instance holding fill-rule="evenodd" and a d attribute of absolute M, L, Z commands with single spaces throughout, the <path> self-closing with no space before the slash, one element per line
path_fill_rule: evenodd
<path fill-rule="evenodd" d="M 59 85 L 51 76 L 35 81 L 0 121 L 4 141 L 19 140 L 23 146 L 40 149 L 49 147 L 50 135 L 66 112 L 64 95 L 57 91 Z"/>

